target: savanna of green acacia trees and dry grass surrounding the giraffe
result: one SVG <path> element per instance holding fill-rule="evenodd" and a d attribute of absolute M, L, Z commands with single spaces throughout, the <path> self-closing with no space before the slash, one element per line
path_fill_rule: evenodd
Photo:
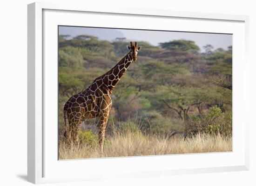
<path fill-rule="evenodd" d="M 138 60 L 112 93 L 101 154 L 97 118 L 82 123 L 78 145 L 65 142 L 63 106 L 115 66 L 129 41 L 59 36 L 59 159 L 232 151 L 232 46 L 137 42 Z"/>

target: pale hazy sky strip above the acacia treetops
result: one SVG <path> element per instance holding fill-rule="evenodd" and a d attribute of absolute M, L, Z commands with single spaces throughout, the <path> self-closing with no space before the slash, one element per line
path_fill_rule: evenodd
<path fill-rule="evenodd" d="M 198 32 L 170 32 L 150 30 L 129 30 L 113 28 L 91 28 L 78 26 L 59 26 L 59 34 L 68 34 L 75 37 L 81 34 L 88 34 L 98 37 L 101 40 L 114 41 L 115 38 L 125 37 L 128 41 L 147 41 L 151 45 L 159 45 L 174 39 L 185 39 L 195 41 L 201 48 L 210 44 L 217 48 L 227 49 L 232 45 L 232 34 L 198 33 Z"/>

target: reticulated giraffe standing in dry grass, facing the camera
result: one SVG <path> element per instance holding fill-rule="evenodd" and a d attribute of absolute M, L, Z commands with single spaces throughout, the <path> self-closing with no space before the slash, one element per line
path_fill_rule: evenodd
<path fill-rule="evenodd" d="M 74 141 L 77 144 L 82 121 L 99 117 L 99 145 L 101 153 L 103 153 L 108 115 L 112 106 L 111 94 L 133 60 L 137 60 L 137 53 L 141 46 L 138 46 L 137 42 L 135 45 L 130 42 L 130 46 L 127 45 L 127 48 L 128 54 L 118 64 L 107 73 L 97 77 L 87 89 L 71 96 L 65 103 L 63 111 L 66 132 L 64 136 L 68 141 Z"/>

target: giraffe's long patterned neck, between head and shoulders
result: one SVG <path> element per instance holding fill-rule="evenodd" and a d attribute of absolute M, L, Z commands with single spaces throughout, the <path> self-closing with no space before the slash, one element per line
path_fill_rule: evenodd
<path fill-rule="evenodd" d="M 114 90 L 116 84 L 120 81 L 121 77 L 127 71 L 130 64 L 132 64 L 133 58 L 131 52 L 129 52 L 121 61 L 116 64 L 110 71 L 102 75 L 103 82 L 107 85 L 110 93 Z"/>

